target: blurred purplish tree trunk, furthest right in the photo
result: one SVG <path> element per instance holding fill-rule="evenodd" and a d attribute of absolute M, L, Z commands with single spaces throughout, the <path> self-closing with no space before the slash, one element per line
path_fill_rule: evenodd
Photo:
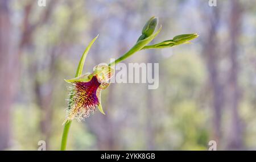
<path fill-rule="evenodd" d="M 231 63 L 229 71 L 229 108 L 231 114 L 230 130 L 228 133 L 228 148 L 229 149 L 241 149 L 242 147 L 242 130 L 241 122 L 238 116 L 238 106 L 240 102 L 240 88 L 238 86 L 238 38 L 240 36 L 241 30 L 241 20 L 242 20 L 242 9 L 241 5 L 237 0 L 230 1 L 231 11 L 230 11 L 230 22 L 229 22 L 229 35 L 230 35 L 230 51 L 229 60 Z"/>

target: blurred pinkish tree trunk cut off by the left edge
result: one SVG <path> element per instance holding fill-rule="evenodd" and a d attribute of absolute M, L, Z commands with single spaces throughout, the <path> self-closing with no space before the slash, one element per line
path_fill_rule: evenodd
<path fill-rule="evenodd" d="M 9 1 L 0 1 L 0 150 L 9 147 L 10 108 L 13 101 L 16 73 L 15 57 L 11 49 L 11 24 Z"/>

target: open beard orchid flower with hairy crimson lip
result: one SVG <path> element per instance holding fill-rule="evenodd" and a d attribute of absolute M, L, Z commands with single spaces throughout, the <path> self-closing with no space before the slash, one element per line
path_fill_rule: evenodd
<path fill-rule="evenodd" d="M 65 80 L 69 84 L 69 107 L 67 109 L 67 121 L 77 119 L 81 121 L 94 113 L 96 108 L 105 114 L 101 106 L 101 91 L 108 88 L 114 69 L 105 64 L 99 64 L 93 68 L 92 73 L 82 74 L 80 77 Z"/>

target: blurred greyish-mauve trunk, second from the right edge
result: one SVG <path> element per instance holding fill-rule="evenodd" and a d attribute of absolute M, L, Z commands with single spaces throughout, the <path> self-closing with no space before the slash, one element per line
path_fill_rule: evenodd
<path fill-rule="evenodd" d="M 221 138 L 221 110 L 224 106 L 224 90 L 221 84 L 218 70 L 218 51 L 217 51 L 217 26 L 219 23 L 219 11 L 216 7 L 213 8 L 212 13 L 205 19 L 208 19 L 209 28 L 208 36 L 204 44 L 203 53 L 205 55 L 207 68 L 209 72 L 209 84 L 213 91 L 213 138 L 217 142 Z"/>

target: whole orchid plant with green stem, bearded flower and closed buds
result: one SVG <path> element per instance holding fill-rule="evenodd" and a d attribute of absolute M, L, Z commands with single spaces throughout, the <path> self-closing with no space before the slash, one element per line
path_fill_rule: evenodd
<path fill-rule="evenodd" d="M 90 41 L 88 47 L 82 54 L 76 70 L 75 78 L 65 80 L 71 84 L 71 86 L 69 86 L 69 102 L 67 108 L 67 117 L 64 121 L 64 130 L 60 148 L 61 150 L 65 150 L 67 147 L 68 132 L 73 119 L 77 119 L 77 121 L 84 120 L 85 118 L 89 117 L 90 114 L 94 113 L 96 108 L 105 115 L 101 105 L 101 91 L 108 88 L 110 85 L 109 81 L 114 73 L 114 69 L 112 68 L 113 65 L 120 63 L 142 49 L 169 48 L 174 45 L 189 43 L 190 40 L 195 39 L 198 36 L 197 34 L 178 35 L 171 40 L 162 41 L 153 45 L 147 45 L 153 39 L 155 39 L 162 29 L 162 26 L 160 26 L 160 28 L 154 32 L 157 24 L 158 18 L 150 18 L 144 25 L 141 36 L 139 36 L 137 42 L 129 51 L 109 65 L 99 64 L 93 68 L 92 73 L 82 74 L 86 56 L 90 47 L 98 36 Z"/>

